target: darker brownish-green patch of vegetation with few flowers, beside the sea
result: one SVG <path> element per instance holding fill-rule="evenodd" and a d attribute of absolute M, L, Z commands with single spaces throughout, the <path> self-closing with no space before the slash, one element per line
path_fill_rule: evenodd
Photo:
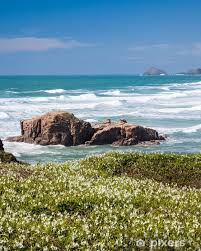
<path fill-rule="evenodd" d="M 80 162 L 110 175 L 126 175 L 135 179 L 201 188 L 201 154 L 119 153 L 104 158 L 90 157 Z"/>

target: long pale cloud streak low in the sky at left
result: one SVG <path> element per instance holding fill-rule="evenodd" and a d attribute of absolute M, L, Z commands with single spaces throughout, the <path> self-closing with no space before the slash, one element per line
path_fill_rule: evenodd
<path fill-rule="evenodd" d="M 76 40 L 57 38 L 16 37 L 0 38 L 0 52 L 47 51 L 50 49 L 72 49 L 92 46 Z"/>

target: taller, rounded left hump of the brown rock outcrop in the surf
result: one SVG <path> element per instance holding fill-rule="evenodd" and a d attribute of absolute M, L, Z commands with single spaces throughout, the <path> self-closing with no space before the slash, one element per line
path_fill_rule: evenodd
<path fill-rule="evenodd" d="M 90 123 L 62 111 L 25 119 L 20 124 L 21 136 L 9 137 L 8 141 L 75 146 L 90 140 L 94 133 Z"/>

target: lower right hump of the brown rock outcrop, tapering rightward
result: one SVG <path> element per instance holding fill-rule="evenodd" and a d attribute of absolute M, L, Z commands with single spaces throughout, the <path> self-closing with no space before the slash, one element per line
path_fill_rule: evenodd
<path fill-rule="evenodd" d="M 159 136 L 156 130 L 144 128 L 139 125 L 128 124 L 127 121 L 120 122 L 107 121 L 94 126 L 95 133 L 89 142 L 89 145 L 136 145 L 141 142 L 164 140 Z"/>

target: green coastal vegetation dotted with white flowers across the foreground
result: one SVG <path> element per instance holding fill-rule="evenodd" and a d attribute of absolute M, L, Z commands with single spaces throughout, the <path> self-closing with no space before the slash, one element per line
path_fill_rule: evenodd
<path fill-rule="evenodd" d="M 201 154 L 1 163 L 0 174 L 2 250 L 201 247 Z"/>

